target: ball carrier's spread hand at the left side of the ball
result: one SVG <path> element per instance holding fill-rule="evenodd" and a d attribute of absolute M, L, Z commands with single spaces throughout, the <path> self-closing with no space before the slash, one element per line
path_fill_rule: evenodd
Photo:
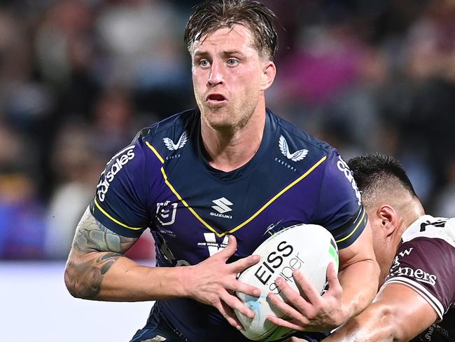
<path fill-rule="evenodd" d="M 255 313 L 237 298 L 235 292 L 258 297 L 260 289 L 237 280 L 237 273 L 257 264 L 260 257 L 250 255 L 226 264 L 226 261 L 235 254 L 236 249 L 237 240 L 234 235 L 230 235 L 228 246 L 221 252 L 212 255 L 200 264 L 184 267 L 186 270 L 184 286 L 190 298 L 214 306 L 233 327 L 241 329 L 241 323 L 232 309 L 251 318 Z"/>

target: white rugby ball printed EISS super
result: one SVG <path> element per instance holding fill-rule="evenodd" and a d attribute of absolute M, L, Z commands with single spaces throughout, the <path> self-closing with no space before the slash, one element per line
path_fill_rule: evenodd
<path fill-rule="evenodd" d="M 320 294 L 326 291 L 326 274 L 330 262 L 338 269 L 338 249 L 332 234 L 316 224 L 297 224 L 284 228 L 270 236 L 255 249 L 260 261 L 237 276 L 238 280 L 254 285 L 261 290 L 260 297 L 237 292 L 241 301 L 255 311 L 253 319 L 237 310 L 235 314 L 243 325 L 241 333 L 253 341 L 275 341 L 289 336 L 293 330 L 280 327 L 267 320 L 267 315 L 283 317 L 281 311 L 269 304 L 267 294 L 273 292 L 281 300 L 283 296 L 276 285 L 276 277 L 281 276 L 299 292 L 293 280 L 293 270 L 299 269 L 316 287 Z"/>

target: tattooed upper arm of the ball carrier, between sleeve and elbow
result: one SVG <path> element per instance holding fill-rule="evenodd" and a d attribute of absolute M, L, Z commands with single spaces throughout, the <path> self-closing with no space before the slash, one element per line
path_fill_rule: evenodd
<path fill-rule="evenodd" d="M 76 228 L 72 249 L 78 252 L 114 252 L 125 254 L 139 238 L 129 238 L 101 224 L 90 210 L 85 210 Z"/>

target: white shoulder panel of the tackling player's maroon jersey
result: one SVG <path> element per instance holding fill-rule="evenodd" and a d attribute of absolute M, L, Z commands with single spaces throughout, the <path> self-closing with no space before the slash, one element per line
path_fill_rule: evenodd
<path fill-rule="evenodd" d="M 423 215 L 402 233 L 402 241 L 417 238 L 441 239 L 455 247 L 455 218 Z"/>

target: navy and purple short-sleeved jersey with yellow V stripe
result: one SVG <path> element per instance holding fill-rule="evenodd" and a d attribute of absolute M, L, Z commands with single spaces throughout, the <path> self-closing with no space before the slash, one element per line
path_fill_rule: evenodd
<path fill-rule="evenodd" d="M 255 156 L 221 172 L 207 162 L 200 125 L 193 109 L 141 130 L 109 161 L 90 204 L 94 217 L 120 235 L 139 237 L 150 228 L 157 266 L 198 264 L 224 248 L 230 234 L 237 238 L 234 261 L 293 224 L 324 226 L 339 249 L 365 228 L 351 172 L 325 142 L 267 109 Z M 211 306 L 186 298 L 155 305 L 188 341 L 248 341 Z"/>

